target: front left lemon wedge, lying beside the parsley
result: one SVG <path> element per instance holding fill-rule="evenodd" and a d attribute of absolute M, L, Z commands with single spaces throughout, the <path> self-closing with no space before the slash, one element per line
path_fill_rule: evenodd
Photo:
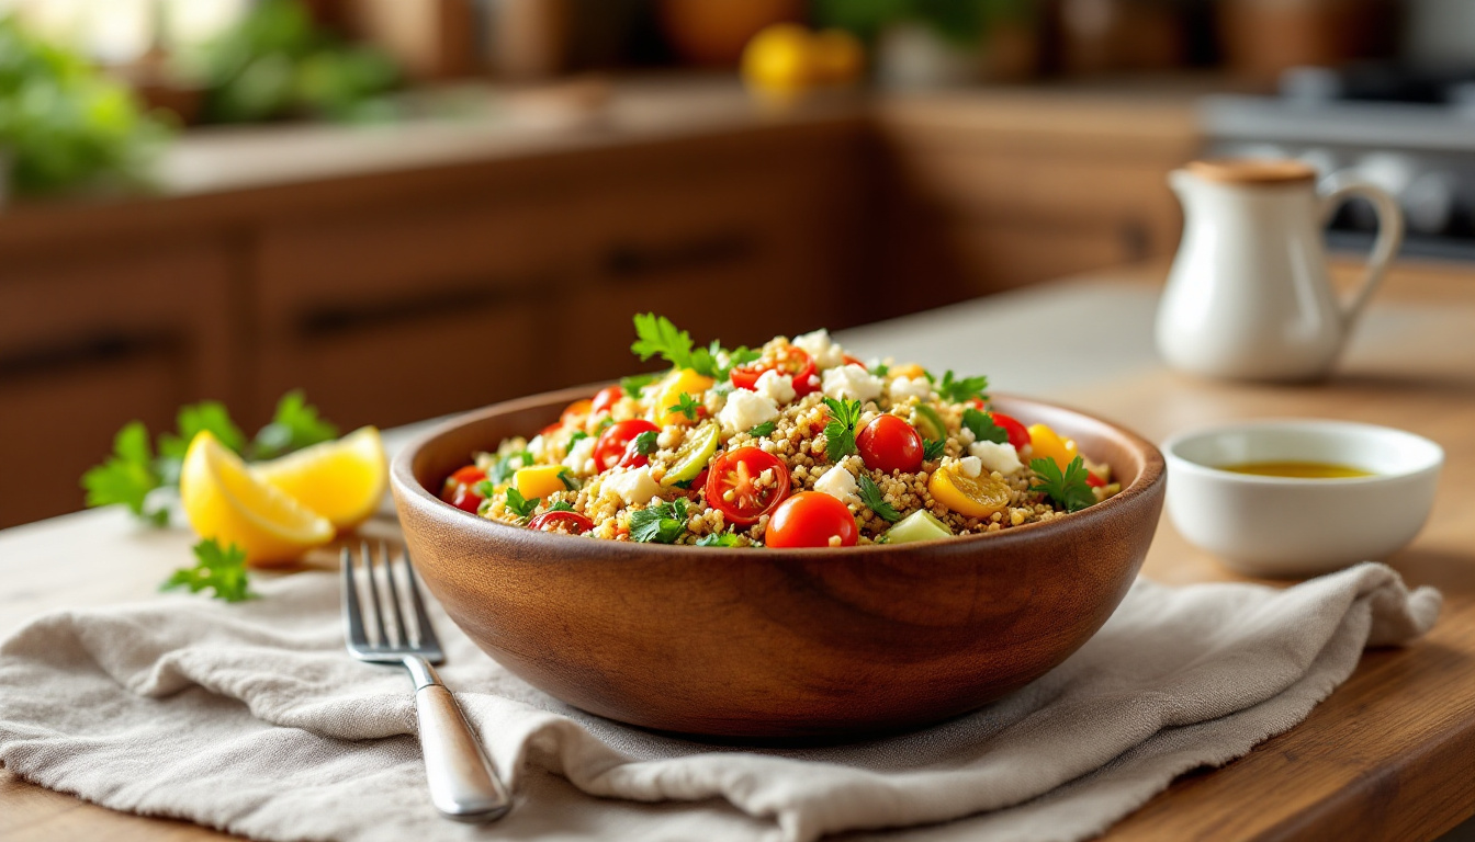
<path fill-rule="evenodd" d="M 201 538 L 236 544 L 252 565 L 279 565 L 333 540 L 333 525 L 258 479 L 209 432 L 190 441 L 180 501 Z"/>

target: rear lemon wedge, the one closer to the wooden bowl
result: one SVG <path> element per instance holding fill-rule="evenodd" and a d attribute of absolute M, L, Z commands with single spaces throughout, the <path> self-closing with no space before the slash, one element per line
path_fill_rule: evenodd
<path fill-rule="evenodd" d="M 373 515 L 389 482 L 384 444 L 372 426 L 252 465 L 251 470 L 339 529 L 357 526 Z"/>

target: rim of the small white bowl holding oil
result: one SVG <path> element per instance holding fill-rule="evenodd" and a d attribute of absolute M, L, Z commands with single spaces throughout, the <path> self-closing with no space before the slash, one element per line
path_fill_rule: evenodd
<path fill-rule="evenodd" d="M 1341 432 L 1363 435 L 1363 436 L 1395 436 L 1412 439 L 1420 447 L 1431 448 L 1429 459 L 1412 463 L 1409 467 L 1398 470 L 1384 470 L 1370 473 L 1369 476 L 1266 476 L 1260 473 L 1238 473 L 1233 470 L 1224 470 L 1212 465 L 1204 465 L 1202 462 L 1195 462 L 1187 456 L 1179 453 L 1179 448 L 1192 441 L 1201 441 L 1212 436 L 1223 435 L 1240 435 L 1240 434 L 1264 434 L 1270 431 L 1297 431 L 1297 432 L 1319 432 L 1336 429 Z M 1398 479 L 1407 479 L 1410 476 L 1419 476 L 1422 473 L 1438 470 L 1444 466 L 1444 448 L 1440 442 L 1422 436 L 1416 432 L 1400 429 L 1395 426 L 1384 426 L 1367 422 L 1353 422 L 1342 419 L 1317 419 L 1317 417 L 1276 417 L 1276 419 L 1254 419 L 1242 422 L 1229 422 L 1220 425 L 1210 425 L 1202 428 L 1193 428 L 1174 434 L 1162 441 L 1159 445 L 1164 457 L 1167 457 L 1168 465 L 1173 466 L 1174 472 L 1192 473 L 1196 476 L 1210 478 L 1218 482 L 1232 482 L 1240 485 L 1276 485 L 1276 487 L 1301 487 L 1301 488 L 1326 488 L 1326 487 L 1350 487 L 1350 485 L 1376 485 L 1379 482 L 1392 482 Z"/>

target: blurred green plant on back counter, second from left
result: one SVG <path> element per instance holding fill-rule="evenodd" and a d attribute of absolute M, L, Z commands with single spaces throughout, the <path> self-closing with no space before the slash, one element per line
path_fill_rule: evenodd
<path fill-rule="evenodd" d="M 299 0 L 263 0 L 235 27 L 180 58 L 206 88 L 205 119 L 392 116 L 400 68 L 384 52 L 319 29 Z"/>

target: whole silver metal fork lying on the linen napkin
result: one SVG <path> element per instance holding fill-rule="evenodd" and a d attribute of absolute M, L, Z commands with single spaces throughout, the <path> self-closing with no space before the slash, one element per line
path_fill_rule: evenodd
<path fill-rule="evenodd" d="M 410 671 L 414 680 L 414 712 L 420 723 L 420 751 L 425 754 L 431 802 L 441 815 L 457 821 L 502 818 L 512 807 L 507 787 L 472 734 L 466 717 L 456 705 L 456 697 L 431 667 L 444 662 L 445 655 L 431 627 L 431 618 L 425 613 L 409 553 L 401 553 L 401 557 L 413 630 L 406 625 L 404 612 L 400 609 L 400 590 L 394 581 L 394 562 L 388 544 L 379 543 L 381 565 L 375 565 L 375 553 L 367 541 L 361 554 L 363 563 L 355 565 L 353 550 L 344 547 L 344 622 L 348 652 L 358 661 L 397 664 Z M 355 574 L 358 566 L 363 568 L 361 577 Z M 376 566 L 382 566 L 385 574 L 384 599 L 376 581 L 379 577 L 375 575 Z M 364 633 L 364 610 L 358 599 L 360 578 L 369 591 L 366 602 L 370 609 L 369 622 L 375 631 L 372 640 Z M 385 621 L 386 613 L 394 618 L 392 622 Z"/>

